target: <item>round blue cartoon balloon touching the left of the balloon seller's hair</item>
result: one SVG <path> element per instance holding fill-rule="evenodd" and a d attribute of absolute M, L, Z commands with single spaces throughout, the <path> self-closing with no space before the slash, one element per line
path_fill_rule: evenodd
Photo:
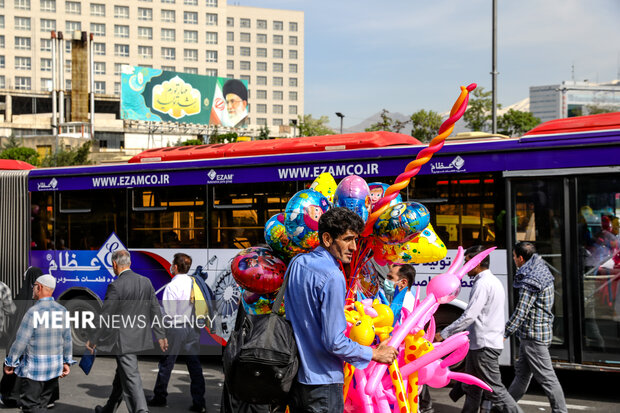
<path fill-rule="evenodd" d="M 297 192 L 286 204 L 284 228 L 298 247 L 314 249 L 319 245 L 319 218 L 329 209 L 329 201 L 314 189 Z"/>

